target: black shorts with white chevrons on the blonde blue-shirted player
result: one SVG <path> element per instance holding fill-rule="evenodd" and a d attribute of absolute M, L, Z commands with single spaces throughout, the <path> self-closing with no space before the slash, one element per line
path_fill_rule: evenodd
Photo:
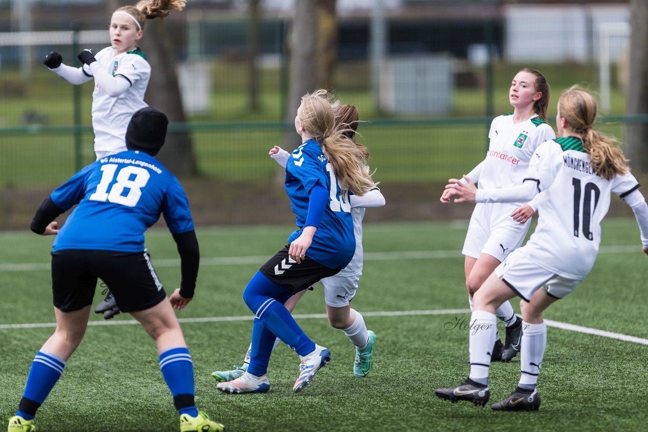
<path fill-rule="evenodd" d="M 322 266 L 308 256 L 297 264 L 288 256 L 289 249 L 290 245 L 286 245 L 281 251 L 275 253 L 275 256 L 270 258 L 259 271 L 273 282 L 290 288 L 294 293 L 306 290 L 319 279 L 336 275 L 341 270 L 341 268 L 331 269 Z"/>

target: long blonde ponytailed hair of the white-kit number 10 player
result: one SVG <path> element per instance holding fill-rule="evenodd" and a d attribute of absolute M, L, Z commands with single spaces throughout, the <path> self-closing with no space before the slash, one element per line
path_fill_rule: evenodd
<path fill-rule="evenodd" d="M 599 177 L 611 179 L 625 174 L 630 168 L 614 137 L 594 130 L 596 121 L 596 99 L 579 85 L 572 85 L 561 93 L 558 110 L 573 131 L 583 140 L 583 149 L 592 159 L 592 168 Z"/>

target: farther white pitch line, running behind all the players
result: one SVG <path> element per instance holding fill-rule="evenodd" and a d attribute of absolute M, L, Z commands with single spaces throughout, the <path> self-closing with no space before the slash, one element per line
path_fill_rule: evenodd
<path fill-rule="evenodd" d="M 639 253 L 641 247 L 638 245 L 602 246 L 599 253 Z M 268 260 L 269 255 L 259 256 L 214 256 L 211 258 L 200 258 L 200 266 L 234 266 L 242 264 L 257 264 L 261 266 Z M 365 252 L 365 261 L 393 261 L 393 260 L 438 260 L 445 258 L 461 258 L 461 251 L 403 251 L 403 252 Z M 180 260 L 154 259 L 151 260 L 154 267 L 179 267 Z M 25 262 L 16 264 L 0 264 L 0 273 L 10 271 L 38 271 L 51 269 L 49 262 Z"/>

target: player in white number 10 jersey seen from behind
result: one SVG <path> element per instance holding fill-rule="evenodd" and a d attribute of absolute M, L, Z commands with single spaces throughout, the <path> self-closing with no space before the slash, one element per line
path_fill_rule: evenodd
<path fill-rule="evenodd" d="M 440 398 L 486 404 L 490 395 L 489 350 L 496 337 L 495 308 L 517 295 L 522 298 L 524 320 L 522 373 L 515 391 L 491 407 L 503 411 L 540 407 L 537 380 L 547 342 L 542 312 L 575 290 L 590 273 L 610 193 L 618 194 L 632 208 L 643 252 L 648 254 L 648 205 L 615 140 L 592 128 L 596 111 L 596 100 L 581 87 L 562 92 L 556 116 L 561 138 L 538 147 L 522 185 L 500 189 L 476 189 L 471 181 L 448 185 L 450 196 L 458 196 L 459 202 L 525 201 L 540 191 L 545 196 L 539 203 L 538 225 L 527 244 L 507 256 L 474 295 L 470 375 L 457 387 L 437 389 Z"/>

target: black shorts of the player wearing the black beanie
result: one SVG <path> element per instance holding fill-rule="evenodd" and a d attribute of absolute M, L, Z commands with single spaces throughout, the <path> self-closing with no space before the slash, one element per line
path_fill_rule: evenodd
<path fill-rule="evenodd" d="M 63 312 L 92 304 L 97 278 L 106 282 L 122 312 L 152 308 L 167 298 L 146 251 L 66 249 L 52 253 L 54 306 Z"/>

